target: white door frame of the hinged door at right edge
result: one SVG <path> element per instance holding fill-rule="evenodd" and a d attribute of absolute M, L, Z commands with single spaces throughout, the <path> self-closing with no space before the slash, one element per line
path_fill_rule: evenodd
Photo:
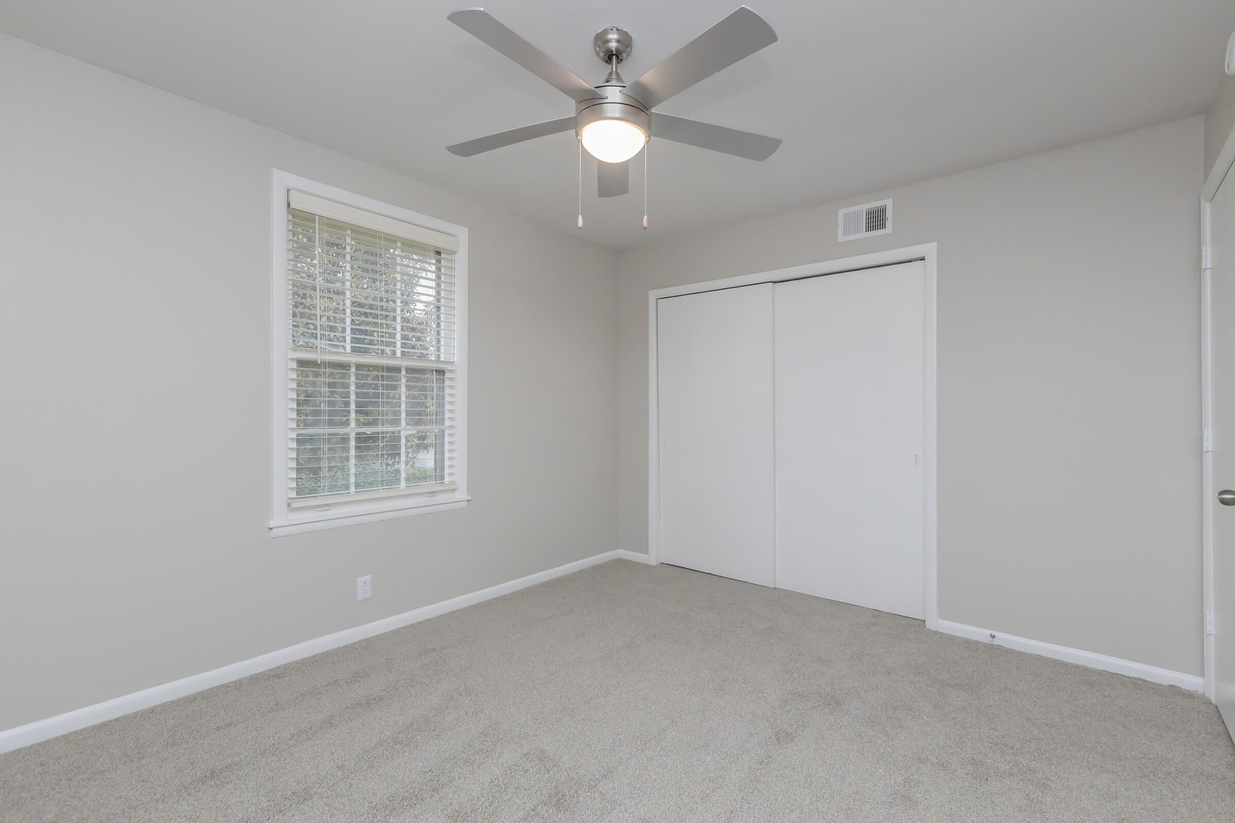
<path fill-rule="evenodd" d="M 1212 701 L 1216 700 L 1216 693 L 1214 635 L 1210 626 L 1214 613 L 1214 460 L 1209 440 L 1214 420 L 1214 396 L 1209 220 L 1210 206 L 1218 195 L 1218 189 L 1224 181 L 1226 185 L 1235 185 L 1235 179 L 1228 180 L 1233 168 L 1235 168 L 1235 130 L 1226 136 L 1226 143 L 1200 189 L 1200 631 L 1205 654 L 1204 693 Z"/>

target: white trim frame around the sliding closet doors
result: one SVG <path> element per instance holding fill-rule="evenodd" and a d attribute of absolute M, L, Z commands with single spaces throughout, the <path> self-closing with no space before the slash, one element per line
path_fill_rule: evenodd
<path fill-rule="evenodd" d="M 716 291 L 720 289 L 735 289 L 737 286 L 751 286 L 761 283 L 782 283 L 785 280 L 802 280 L 805 278 L 818 278 L 827 274 L 841 274 L 844 271 L 858 271 L 861 269 L 874 269 L 897 263 L 911 263 L 921 260 L 925 269 L 924 285 L 924 369 L 923 369 L 923 420 L 924 420 L 924 454 L 923 454 L 923 580 L 925 591 L 923 606 L 925 612 L 926 628 L 939 627 L 939 573 L 937 573 L 937 533 L 939 533 L 939 497 L 937 497 L 937 360 L 936 360 L 936 255 L 939 243 L 921 243 L 906 246 L 885 252 L 872 252 L 856 257 L 808 263 L 794 265 L 787 269 L 774 269 L 772 271 L 760 271 L 757 274 L 742 274 L 720 280 L 705 280 L 703 283 L 690 283 L 680 286 L 667 286 L 652 289 L 647 292 L 647 558 L 652 565 L 661 563 L 661 459 L 659 459 L 659 395 L 657 380 L 657 301 L 662 297 L 677 297 L 682 295 L 699 294 L 701 291 Z"/>

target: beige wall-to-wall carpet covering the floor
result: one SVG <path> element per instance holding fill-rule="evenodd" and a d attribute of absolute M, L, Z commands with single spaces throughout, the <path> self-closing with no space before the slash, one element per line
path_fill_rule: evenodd
<path fill-rule="evenodd" d="M 1199 695 L 618 560 L 0 756 L 4 821 L 1235 821 Z"/>

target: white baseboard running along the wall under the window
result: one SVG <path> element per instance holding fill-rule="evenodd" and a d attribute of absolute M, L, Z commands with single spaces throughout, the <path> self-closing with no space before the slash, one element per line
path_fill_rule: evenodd
<path fill-rule="evenodd" d="M 587 569 L 588 566 L 594 566 L 608 560 L 616 560 L 619 558 L 627 558 L 636 561 L 642 558 L 643 563 L 647 561 L 646 554 L 635 554 L 632 552 L 620 552 L 614 549 L 613 552 L 605 552 L 595 556 L 584 558 L 583 560 L 567 563 L 564 566 L 557 566 L 556 569 L 550 569 L 547 571 L 537 571 L 536 574 L 520 577 L 519 580 L 511 580 L 510 582 L 490 586 L 489 589 L 473 591 L 469 595 L 461 595 L 458 597 L 452 597 L 451 600 L 445 600 L 440 603 L 414 608 L 412 611 L 404 612 L 403 614 L 395 614 L 380 621 L 366 623 L 364 626 L 357 626 L 354 628 L 343 629 L 342 632 L 335 632 L 333 634 L 314 638 L 312 640 L 296 643 L 295 645 L 289 645 L 284 649 L 278 649 L 257 658 L 232 663 L 222 666 L 221 669 L 204 671 L 199 675 L 190 675 L 180 680 L 174 680 L 169 684 L 163 684 L 162 686 L 152 686 L 151 689 L 143 689 L 142 691 L 115 697 L 101 703 L 95 703 L 94 706 L 86 706 L 85 708 L 65 712 L 64 714 L 57 714 L 56 717 L 48 717 L 43 721 L 35 721 L 33 723 L 17 726 L 0 732 L 0 754 L 31 745 L 32 743 L 59 737 L 61 734 L 68 734 L 69 732 L 84 729 L 88 726 L 103 723 L 104 721 L 110 721 L 115 717 L 120 717 L 121 714 L 128 714 L 143 708 L 149 708 L 151 706 L 158 706 L 159 703 L 165 703 L 170 700 L 177 700 L 178 697 L 184 697 L 185 695 L 210 689 L 211 686 L 219 686 L 231 682 L 232 680 L 240 680 L 241 677 L 256 675 L 259 671 L 280 666 L 284 663 L 291 663 L 293 660 L 300 660 L 301 658 L 337 649 L 341 645 L 356 643 L 357 640 L 363 640 L 375 634 L 382 634 L 383 632 L 390 632 L 391 629 L 411 626 L 412 623 L 419 623 L 420 621 L 427 621 L 430 617 L 437 617 L 438 614 L 453 612 L 485 600 L 501 597 L 503 595 L 509 595 L 513 591 L 519 591 L 520 589 L 526 589 L 527 586 L 535 586 L 538 582 L 545 582 L 547 580 L 552 580 L 553 577 L 561 577 L 573 571 L 579 571 L 582 569 Z"/>

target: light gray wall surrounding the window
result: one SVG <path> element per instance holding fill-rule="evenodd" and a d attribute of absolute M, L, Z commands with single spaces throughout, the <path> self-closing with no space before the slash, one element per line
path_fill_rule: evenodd
<path fill-rule="evenodd" d="M 615 253 L 2 35 L 0 111 L 0 728 L 616 548 Z M 268 537 L 272 167 L 471 230 L 463 511 Z"/>

